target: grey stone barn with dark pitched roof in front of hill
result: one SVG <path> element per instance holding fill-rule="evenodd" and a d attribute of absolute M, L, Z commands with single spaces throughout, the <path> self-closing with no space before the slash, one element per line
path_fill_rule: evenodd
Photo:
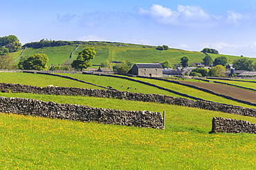
<path fill-rule="evenodd" d="M 137 63 L 131 67 L 129 74 L 148 77 L 162 77 L 163 67 L 160 63 Z"/>

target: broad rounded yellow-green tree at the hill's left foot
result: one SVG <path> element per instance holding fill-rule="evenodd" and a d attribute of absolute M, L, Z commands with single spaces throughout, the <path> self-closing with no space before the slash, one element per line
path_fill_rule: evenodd
<path fill-rule="evenodd" d="M 46 63 L 49 61 L 46 54 L 34 54 L 33 56 L 25 56 L 19 63 L 19 69 L 24 70 L 48 70 Z"/>

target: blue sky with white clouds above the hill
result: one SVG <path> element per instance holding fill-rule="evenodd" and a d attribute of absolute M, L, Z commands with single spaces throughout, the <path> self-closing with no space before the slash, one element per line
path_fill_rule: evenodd
<path fill-rule="evenodd" d="M 256 58 L 255 0 L 0 0 L 0 37 L 168 45 Z"/>

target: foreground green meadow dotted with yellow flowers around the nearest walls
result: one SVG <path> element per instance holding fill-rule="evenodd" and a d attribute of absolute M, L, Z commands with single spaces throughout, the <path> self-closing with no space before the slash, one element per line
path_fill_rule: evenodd
<path fill-rule="evenodd" d="M 255 169 L 254 134 L 208 132 L 214 116 L 256 118 L 109 98 L 4 95 L 167 114 L 165 131 L 0 114 L 0 169 Z"/>

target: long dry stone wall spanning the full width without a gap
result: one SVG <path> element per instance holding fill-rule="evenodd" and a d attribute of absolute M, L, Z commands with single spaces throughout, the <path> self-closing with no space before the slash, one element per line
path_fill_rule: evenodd
<path fill-rule="evenodd" d="M 212 103 L 204 100 L 189 100 L 187 98 L 174 98 L 161 94 L 140 94 L 122 92 L 109 89 L 83 89 L 77 87 L 36 87 L 13 83 L 0 83 L 0 89 L 9 89 L 12 93 L 51 94 L 67 96 L 93 96 L 98 98 L 117 98 L 120 100 L 137 100 L 143 102 L 163 103 L 186 107 L 197 107 L 212 111 L 222 111 L 229 114 L 256 117 L 256 109 Z"/>

